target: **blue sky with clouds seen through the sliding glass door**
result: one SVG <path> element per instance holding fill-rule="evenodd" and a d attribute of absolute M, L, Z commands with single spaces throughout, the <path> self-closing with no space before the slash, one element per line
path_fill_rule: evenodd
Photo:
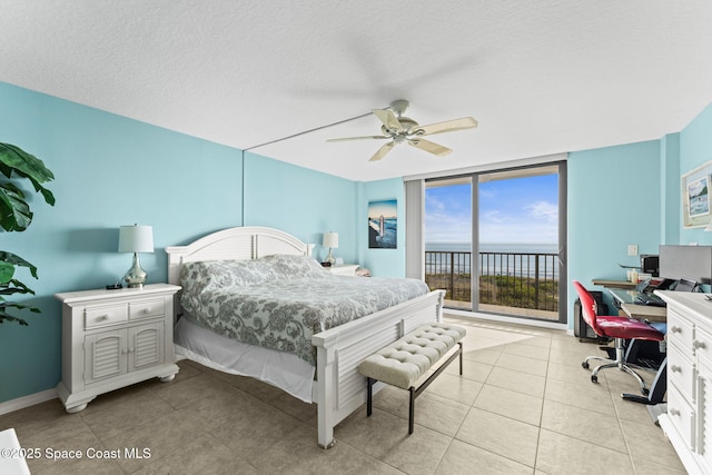
<path fill-rule="evenodd" d="M 481 243 L 557 243 L 558 176 L 479 184 Z M 425 241 L 469 243 L 469 185 L 427 188 Z"/>

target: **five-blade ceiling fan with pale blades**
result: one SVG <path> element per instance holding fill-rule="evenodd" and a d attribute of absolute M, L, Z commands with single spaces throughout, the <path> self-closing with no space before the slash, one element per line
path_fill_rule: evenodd
<path fill-rule="evenodd" d="M 407 100 L 395 100 L 390 102 L 390 106 L 386 109 L 373 109 L 374 115 L 383 122 L 383 126 L 380 126 L 380 131 L 383 132 L 382 136 L 346 137 L 340 139 L 328 139 L 327 141 L 336 142 L 369 139 L 390 140 L 382 146 L 378 151 L 370 157 L 369 161 L 380 160 L 386 156 L 386 154 L 393 150 L 393 147 L 404 142 L 438 157 L 444 157 L 453 150 L 429 140 L 425 140 L 423 137 L 451 132 L 454 130 L 474 129 L 477 127 L 477 121 L 472 117 L 431 123 L 429 126 L 419 126 L 415 120 L 404 116 L 408 106 L 409 102 Z"/>

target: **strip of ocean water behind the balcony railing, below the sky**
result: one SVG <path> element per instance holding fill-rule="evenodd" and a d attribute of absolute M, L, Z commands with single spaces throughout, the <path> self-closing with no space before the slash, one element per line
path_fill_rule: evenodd
<path fill-rule="evenodd" d="M 556 243 L 481 243 L 481 269 L 479 275 L 511 275 L 515 277 L 534 277 L 536 274 L 536 259 L 538 258 L 540 277 L 558 278 L 558 265 L 555 256 L 534 256 L 543 254 L 556 254 Z M 451 266 L 455 274 L 471 274 L 469 259 L 466 255 L 456 254 L 451 261 L 448 254 L 443 253 L 469 253 L 469 243 L 425 243 L 425 250 L 438 254 L 426 254 L 425 271 L 449 273 Z M 495 255 L 482 255 L 482 253 L 495 253 Z M 522 256 L 532 254 L 533 256 Z"/>

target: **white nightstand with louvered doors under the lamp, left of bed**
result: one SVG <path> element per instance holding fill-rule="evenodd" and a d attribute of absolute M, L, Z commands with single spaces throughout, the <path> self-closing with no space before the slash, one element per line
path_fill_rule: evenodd
<path fill-rule="evenodd" d="M 57 294 L 62 303 L 62 380 L 57 394 L 77 413 L 99 394 L 152 377 L 171 380 L 174 295 L 180 287 Z"/>

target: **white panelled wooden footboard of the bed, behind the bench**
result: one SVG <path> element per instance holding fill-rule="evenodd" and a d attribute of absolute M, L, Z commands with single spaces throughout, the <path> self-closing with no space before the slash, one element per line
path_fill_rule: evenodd
<path fill-rule="evenodd" d="M 357 370 L 362 359 L 422 324 L 442 321 L 444 296 L 444 290 L 433 290 L 312 337 L 317 348 L 314 402 L 319 446 L 333 446 L 334 427 L 366 403 L 366 378 Z"/>

